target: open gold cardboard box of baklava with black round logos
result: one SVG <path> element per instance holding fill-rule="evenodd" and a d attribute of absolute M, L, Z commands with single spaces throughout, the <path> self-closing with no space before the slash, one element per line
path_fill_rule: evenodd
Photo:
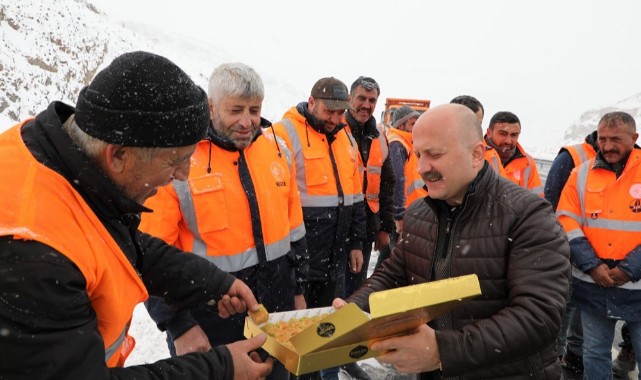
<path fill-rule="evenodd" d="M 245 336 L 263 332 L 269 323 L 323 315 L 294 335 L 289 347 L 268 335 L 263 349 L 296 375 L 339 366 L 380 355 L 372 342 L 411 332 L 465 300 L 481 294 L 475 274 L 374 292 L 369 296 L 370 313 L 355 304 L 270 313 L 267 322 L 245 320 Z"/>

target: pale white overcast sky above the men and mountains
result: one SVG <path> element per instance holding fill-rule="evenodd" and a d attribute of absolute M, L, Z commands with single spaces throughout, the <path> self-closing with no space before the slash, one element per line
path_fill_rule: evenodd
<path fill-rule="evenodd" d="M 584 111 L 641 92 L 638 0 L 93 2 L 222 46 L 306 94 L 323 76 L 348 86 L 374 77 L 377 117 L 386 97 L 470 94 L 484 127 L 497 111 L 516 113 L 529 146 L 558 145 Z"/>

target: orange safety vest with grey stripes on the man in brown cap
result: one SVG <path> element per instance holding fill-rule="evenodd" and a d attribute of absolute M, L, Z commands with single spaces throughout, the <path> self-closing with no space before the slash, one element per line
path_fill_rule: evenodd
<path fill-rule="evenodd" d="M 273 128 L 294 155 L 303 207 L 350 206 L 363 201 L 358 148 L 349 132 L 336 133 L 330 145 L 327 136 L 309 126 L 296 107 L 288 110 Z M 339 185 L 342 196 L 338 194 Z"/>

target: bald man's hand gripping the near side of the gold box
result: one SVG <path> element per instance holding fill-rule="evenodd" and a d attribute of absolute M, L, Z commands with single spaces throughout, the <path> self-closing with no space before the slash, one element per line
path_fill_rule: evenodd
<path fill-rule="evenodd" d="M 441 363 L 436 334 L 428 325 L 417 327 L 409 335 L 374 342 L 371 349 L 387 351 L 377 357 L 378 361 L 392 364 L 404 373 L 434 371 Z"/>

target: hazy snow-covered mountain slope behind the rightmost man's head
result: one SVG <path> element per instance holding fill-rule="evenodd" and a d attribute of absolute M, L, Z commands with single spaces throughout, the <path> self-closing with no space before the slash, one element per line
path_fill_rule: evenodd
<path fill-rule="evenodd" d="M 614 111 L 627 112 L 637 123 L 637 129 L 641 130 L 641 92 L 625 98 L 613 105 L 604 106 L 585 111 L 574 124 L 566 129 L 563 135 L 564 144 L 575 144 L 583 141 L 585 136 L 594 131 L 601 117 Z"/>

